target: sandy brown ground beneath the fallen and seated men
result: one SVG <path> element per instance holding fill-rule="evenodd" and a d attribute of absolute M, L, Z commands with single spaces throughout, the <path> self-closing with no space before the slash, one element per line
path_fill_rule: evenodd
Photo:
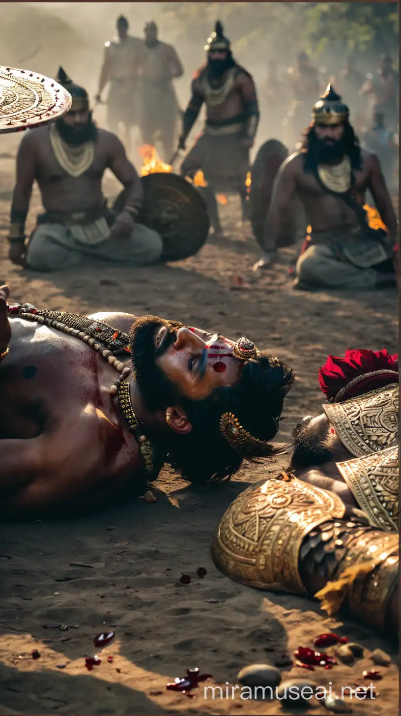
<path fill-rule="evenodd" d="M 13 171 L 11 161 L 3 160 L 3 235 Z M 107 185 L 107 193 L 116 193 L 110 180 Z M 38 206 L 35 197 L 31 224 Z M 251 266 L 259 253 L 249 228 L 237 226 L 236 200 L 229 199 L 222 216 L 228 238 L 211 239 L 198 256 L 179 265 L 32 274 L 11 266 L 1 241 L 0 278 L 11 284 L 14 299 L 38 306 L 151 312 L 231 337 L 246 334 L 296 370 L 278 436 L 284 441 L 295 421 L 321 412 L 317 370 L 327 354 L 343 354 L 347 347 L 397 350 L 395 291 L 296 293 L 287 278 L 294 248 L 283 250 L 281 264 L 257 278 Z M 231 483 L 213 488 L 193 488 L 162 473 L 158 485 L 165 494 L 154 504 L 137 500 L 79 521 L 1 526 L 0 714 L 321 715 L 326 711 L 316 701 L 295 710 L 279 702 L 241 700 L 238 691 L 233 699 L 213 701 L 211 695 L 204 698 L 203 688 L 190 700 L 166 691 L 165 684 L 195 666 L 213 674 L 211 684 L 235 684 L 244 665 L 269 662 L 281 665 L 283 679 L 332 681 L 339 691 L 362 682 L 376 647 L 392 654 L 394 663 L 379 669 L 384 677 L 377 682 L 377 699 L 354 701 L 353 712 L 395 713 L 394 645 L 350 621 L 325 619 L 311 601 L 239 586 L 213 567 L 209 547 L 219 518 L 249 483 L 277 472 L 286 460 L 280 459 L 243 468 Z M 207 570 L 204 579 L 196 576 L 199 566 Z M 190 584 L 179 583 L 182 573 L 191 576 Z M 49 622 L 77 628 L 45 629 Z M 93 637 L 108 629 L 115 630 L 115 642 L 89 672 L 84 656 L 95 654 Z M 296 647 L 311 646 L 314 635 L 332 630 L 362 644 L 364 659 L 331 671 L 283 666 Z M 34 648 L 41 654 L 35 661 Z"/>

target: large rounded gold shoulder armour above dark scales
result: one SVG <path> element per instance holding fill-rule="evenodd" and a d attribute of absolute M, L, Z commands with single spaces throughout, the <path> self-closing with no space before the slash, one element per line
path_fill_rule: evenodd
<path fill-rule="evenodd" d="M 242 584 L 306 594 L 299 575 L 301 543 L 319 524 L 344 513 L 334 493 L 281 473 L 234 500 L 214 538 L 213 560 Z"/>

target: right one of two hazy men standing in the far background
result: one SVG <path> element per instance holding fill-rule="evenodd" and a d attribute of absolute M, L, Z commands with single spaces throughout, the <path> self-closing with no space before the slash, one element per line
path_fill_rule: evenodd
<path fill-rule="evenodd" d="M 141 82 L 140 128 L 142 142 L 163 147 L 165 162 L 173 154 L 180 107 L 173 87 L 173 79 L 184 74 L 183 66 L 173 45 L 160 42 L 155 22 L 145 25 L 138 59 Z"/>

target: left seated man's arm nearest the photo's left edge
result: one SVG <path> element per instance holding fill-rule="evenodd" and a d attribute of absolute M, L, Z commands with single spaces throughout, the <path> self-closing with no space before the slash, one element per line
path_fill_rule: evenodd
<path fill-rule="evenodd" d="M 25 221 L 35 180 L 35 142 L 33 132 L 24 135 L 16 155 L 16 183 L 11 202 L 9 258 L 19 264 L 24 263 Z"/>

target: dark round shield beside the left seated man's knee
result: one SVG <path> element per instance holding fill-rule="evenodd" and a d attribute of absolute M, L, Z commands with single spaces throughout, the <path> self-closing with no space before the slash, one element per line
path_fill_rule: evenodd
<path fill-rule="evenodd" d="M 162 261 L 181 261 L 202 248 L 209 233 L 206 203 L 186 179 L 173 173 L 142 177 L 143 201 L 138 221 L 163 239 Z M 117 196 L 114 211 L 125 203 L 125 190 Z"/>

